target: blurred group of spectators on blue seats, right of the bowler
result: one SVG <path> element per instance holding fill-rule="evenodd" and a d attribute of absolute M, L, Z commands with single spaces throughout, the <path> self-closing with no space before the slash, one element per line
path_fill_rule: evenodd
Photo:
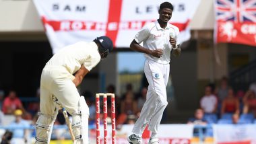
<path fill-rule="evenodd" d="M 220 87 L 214 85 L 205 86 L 205 94 L 199 102 L 200 106 L 195 110 L 188 124 L 252 124 L 256 123 L 256 83 L 251 83 L 249 89 L 243 92 L 228 85 L 228 79 L 222 77 Z M 205 137 L 212 137 L 212 127 L 204 129 Z M 198 135 L 198 129 L 194 135 Z"/>

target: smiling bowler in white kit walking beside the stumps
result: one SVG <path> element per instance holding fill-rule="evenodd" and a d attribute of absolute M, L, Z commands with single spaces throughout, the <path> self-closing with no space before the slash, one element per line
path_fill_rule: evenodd
<path fill-rule="evenodd" d="M 146 126 L 152 132 L 150 144 L 158 144 L 158 127 L 168 102 L 166 85 L 170 73 L 170 53 L 181 54 L 177 43 L 179 28 L 168 23 L 172 17 L 173 6 L 164 2 L 158 11 L 159 18 L 144 26 L 131 42 L 131 49 L 146 55 L 144 73 L 148 80 L 146 102 L 133 127 L 133 134 L 127 139 L 131 144 L 142 143 L 142 133 Z M 139 45 L 143 42 L 143 46 Z"/>

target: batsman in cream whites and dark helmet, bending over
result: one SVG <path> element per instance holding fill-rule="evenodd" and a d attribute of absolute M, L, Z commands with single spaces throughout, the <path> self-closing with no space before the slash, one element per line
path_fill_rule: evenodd
<path fill-rule="evenodd" d="M 40 112 L 36 122 L 36 144 L 50 143 L 58 111 L 72 116 L 76 144 L 88 144 L 89 108 L 77 91 L 84 76 L 113 50 L 113 42 L 100 36 L 93 42 L 65 46 L 46 63 L 40 81 Z"/>

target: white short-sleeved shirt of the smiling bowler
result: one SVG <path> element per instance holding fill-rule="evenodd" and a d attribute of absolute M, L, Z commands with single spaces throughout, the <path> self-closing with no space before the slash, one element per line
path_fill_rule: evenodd
<path fill-rule="evenodd" d="M 172 50 L 172 45 L 170 44 L 170 33 L 174 36 L 179 35 L 179 28 L 171 24 L 167 24 L 166 28 L 161 28 L 158 21 L 146 24 L 135 36 L 136 42 L 141 44 L 143 42 L 144 48 L 149 48 L 150 50 L 156 50 L 158 48 L 163 49 L 163 55 L 160 58 L 153 57 L 152 55 L 147 55 L 148 59 L 156 61 L 161 64 L 170 63 L 170 52 Z M 177 42 L 178 44 L 178 42 Z"/>

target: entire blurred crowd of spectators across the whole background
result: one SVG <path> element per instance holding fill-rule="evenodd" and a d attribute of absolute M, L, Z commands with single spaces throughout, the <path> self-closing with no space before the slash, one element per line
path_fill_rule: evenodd
<path fill-rule="evenodd" d="M 116 93 L 115 85 L 108 85 L 106 92 Z M 256 84 L 251 83 L 247 92 L 234 89 L 228 85 L 228 79 L 223 77 L 219 87 L 214 85 L 206 85 L 204 96 L 199 102 L 200 106 L 195 110 L 193 117 L 189 118 L 188 124 L 207 125 L 207 124 L 248 124 L 256 122 Z M 139 92 L 133 91 L 133 86 L 128 83 L 126 91 L 122 96 L 116 96 L 116 117 L 117 129 L 122 124 L 134 124 L 139 116 L 141 108 L 146 102 L 147 87 L 141 87 Z M 94 134 L 95 125 L 95 96 L 91 92 L 84 92 L 86 102 L 90 108 L 89 124 L 92 126 L 91 134 Z M 34 99 L 30 102 L 22 102 L 14 90 L 10 90 L 7 96 L 0 89 L 0 125 L 8 127 L 29 127 L 34 126 L 39 110 L 40 92 L 38 91 Z M 101 100 L 102 102 L 102 100 Z M 103 104 L 100 104 L 103 106 Z M 102 109 L 102 108 L 101 108 Z M 108 100 L 108 122 L 110 118 L 110 100 Z M 101 118 L 103 115 L 100 115 Z M 6 118 L 7 117 L 7 118 Z M 10 119 L 12 118 L 12 119 Z M 101 119 L 102 120 L 102 119 Z M 7 122 L 6 122 L 7 121 Z M 6 124 L 7 123 L 7 124 Z M 101 123 L 103 123 L 101 121 Z M 59 110 L 55 125 L 65 126 L 65 118 L 62 110 Z M 212 127 L 207 127 L 203 130 L 205 136 L 212 137 Z M 34 129 L 10 129 L 5 131 L 1 129 L 0 134 L 5 141 L 7 135 L 12 134 L 12 143 L 26 143 L 29 137 L 35 136 Z M 198 135 L 198 130 L 194 130 L 195 137 Z M 55 129 L 52 139 L 70 139 L 67 129 Z"/>

